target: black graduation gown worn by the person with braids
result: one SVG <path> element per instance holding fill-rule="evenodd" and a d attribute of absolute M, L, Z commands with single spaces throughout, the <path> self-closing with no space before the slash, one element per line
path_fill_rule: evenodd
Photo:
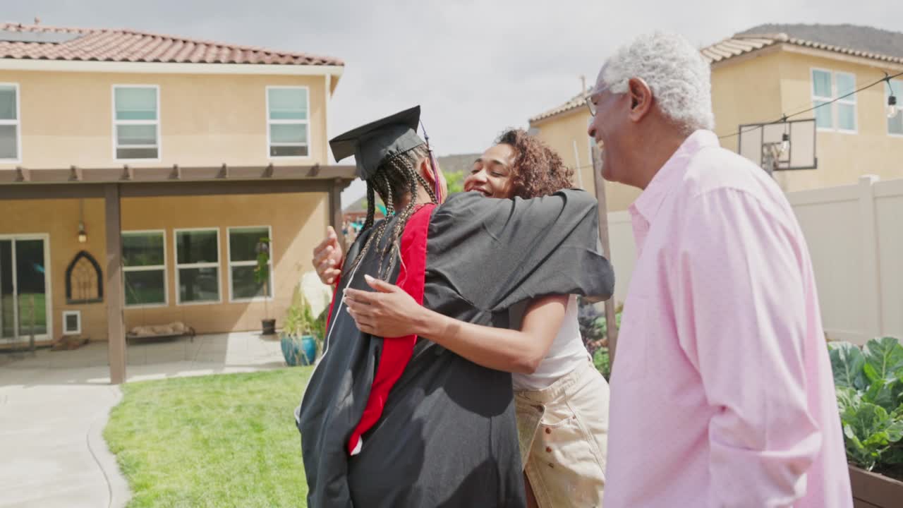
<path fill-rule="evenodd" d="M 424 306 L 506 327 L 507 309 L 537 296 L 610 297 L 614 275 L 598 250 L 596 206 L 577 190 L 533 200 L 452 196 L 429 218 Z M 358 237 L 347 259 L 374 229 Z M 338 290 L 369 289 L 363 276 L 375 275 L 377 265 L 371 249 L 353 279 L 342 274 Z M 397 276 L 396 267 L 389 279 Z M 358 331 L 344 306 L 334 306 L 327 353 L 296 415 L 308 505 L 525 506 L 511 375 L 426 339 L 414 345 L 360 453 L 349 456 L 383 339 Z"/>

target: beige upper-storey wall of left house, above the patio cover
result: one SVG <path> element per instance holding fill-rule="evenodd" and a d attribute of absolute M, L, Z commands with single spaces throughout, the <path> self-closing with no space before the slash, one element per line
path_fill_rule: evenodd
<path fill-rule="evenodd" d="M 18 83 L 22 126 L 22 162 L 0 169 L 123 165 L 114 160 L 115 84 L 160 89 L 161 160 L 134 167 L 328 163 L 323 76 L 0 71 L 0 82 Z M 309 88 L 310 157 L 269 158 L 270 85 Z"/>

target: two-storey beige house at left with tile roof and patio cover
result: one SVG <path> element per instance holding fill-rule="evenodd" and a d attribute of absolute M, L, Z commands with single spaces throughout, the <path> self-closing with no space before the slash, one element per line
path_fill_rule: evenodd
<path fill-rule="evenodd" d="M 0 24 L 0 347 L 281 321 L 341 221 L 343 63 L 131 30 Z M 269 288 L 256 244 L 272 240 Z"/>

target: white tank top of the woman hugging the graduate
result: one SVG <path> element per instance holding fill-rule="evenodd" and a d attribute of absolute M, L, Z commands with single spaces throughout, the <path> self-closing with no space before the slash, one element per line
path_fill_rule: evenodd
<path fill-rule="evenodd" d="M 511 327 L 519 330 L 524 320 L 524 313 L 529 302 L 518 304 L 510 310 Z M 567 311 L 564 313 L 562 327 L 558 330 L 549 352 L 539 363 L 532 374 L 513 373 L 512 381 L 515 390 L 543 390 L 566 374 L 571 373 L 579 362 L 587 362 L 589 353 L 583 345 L 580 325 L 577 323 L 577 297 L 567 300 Z"/>

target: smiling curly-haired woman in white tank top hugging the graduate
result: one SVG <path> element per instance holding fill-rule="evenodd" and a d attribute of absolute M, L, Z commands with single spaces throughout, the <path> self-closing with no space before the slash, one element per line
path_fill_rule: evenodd
<path fill-rule="evenodd" d="M 554 150 L 523 130 L 509 130 L 474 162 L 464 191 L 529 199 L 571 187 L 572 177 Z M 511 311 L 511 329 L 502 329 L 440 315 L 384 281 L 369 284 L 380 295 L 346 293 L 362 332 L 416 334 L 471 362 L 512 372 L 528 505 L 601 505 L 609 386 L 583 346 L 575 296 L 524 302 Z"/>

